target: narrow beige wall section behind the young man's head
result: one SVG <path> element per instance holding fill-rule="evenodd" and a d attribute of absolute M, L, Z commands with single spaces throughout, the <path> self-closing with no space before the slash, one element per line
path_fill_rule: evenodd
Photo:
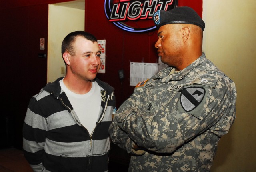
<path fill-rule="evenodd" d="M 72 3 L 76 2 L 81 0 Z M 65 68 L 61 55 L 61 43 L 64 37 L 70 32 L 84 30 L 84 10 L 70 8 L 68 6 L 74 6 L 70 3 L 49 5 L 47 82 L 65 76 L 61 74 L 61 67 Z"/>

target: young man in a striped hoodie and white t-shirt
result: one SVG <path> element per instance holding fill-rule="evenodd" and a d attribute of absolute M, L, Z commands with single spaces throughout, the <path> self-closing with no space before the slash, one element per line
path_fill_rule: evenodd
<path fill-rule="evenodd" d="M 66 76 L 31 98 L 24 121 L 24 155 L 35 172 L 108 171 L 115 96 L 114 88 L 96 78 L 100 54 L 90 33 L 64 38 Z"/>

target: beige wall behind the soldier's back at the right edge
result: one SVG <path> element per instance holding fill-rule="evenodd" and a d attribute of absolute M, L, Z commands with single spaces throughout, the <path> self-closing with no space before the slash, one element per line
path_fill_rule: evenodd
<path fill-rule="evenodd" d="M 203 0 L 203 51 L 237 89 L 236 120 L 220 139 L 212 172 L 256 171 L 256 1 Z"/>

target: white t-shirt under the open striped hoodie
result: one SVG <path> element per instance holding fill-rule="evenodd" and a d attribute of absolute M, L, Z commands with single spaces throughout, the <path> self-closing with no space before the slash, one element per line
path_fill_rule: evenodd
<path fill-rule="evenodd" d="M 100 116 L 101 94 L 100 86 L 92 81 L 92 88 L 86 94 L 76 94 L 70 91 L 64 84 L 63 79 L 60 80 L 60 86 L 66 93 L 76 115 L 78 116 L 81 124 L 92 134 L 96 126 L 96 122 Z"/>

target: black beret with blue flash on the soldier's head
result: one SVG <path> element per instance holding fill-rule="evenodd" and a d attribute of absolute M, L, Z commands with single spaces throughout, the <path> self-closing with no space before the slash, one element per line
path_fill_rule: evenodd
<path fill-rule="evenodd" d="M 153 20 L 156 28 L 159 29 L 165 24 L 194 24 L 204 30 L 204 21 L 198 14 L 190 7 L 182 6 L 176 7 L 169 11 L 158 10 L 153 14 Z"/>

